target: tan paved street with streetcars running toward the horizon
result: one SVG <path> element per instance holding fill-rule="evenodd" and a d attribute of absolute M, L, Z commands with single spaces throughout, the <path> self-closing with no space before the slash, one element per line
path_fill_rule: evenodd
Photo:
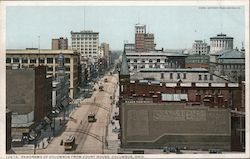
<path fill-rule="evenodd" d="M 108 82 L 104 82 L 107 78 Z M 110 123 L 112 100 L 110 96 L 115 95 L 118 75 L 104 76 L 95 85 L 96 91 L 91 98 L 84 99 L 80 106 L 72 114 L 65 130 L 53 139 L 46 149 L 37 150 L 38 154 L 102 154 L 104 153 L 106 141 L 106 128 Z M 104 91 L 99 91 L 99 85 L 104 86 Z M 96 113 L 97 121 L 88 123 L 87 117 L 90 112 Z M 76 146 L 73 151 L 64 151 L 60 145 L 61 140 L 69 135 L 76 137 Z"/>

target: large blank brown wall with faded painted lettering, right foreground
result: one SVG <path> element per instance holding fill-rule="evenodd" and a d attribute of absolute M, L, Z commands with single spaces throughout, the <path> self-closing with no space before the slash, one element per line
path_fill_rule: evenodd
<path fill-rule="evenodd" d="M 122 148 L 231 150 L 228 109 L 126 100 L 120 109 Z"/>

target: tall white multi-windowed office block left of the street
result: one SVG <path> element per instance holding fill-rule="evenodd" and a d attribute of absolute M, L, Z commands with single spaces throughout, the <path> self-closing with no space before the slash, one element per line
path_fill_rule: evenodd
<path fill-rule="evenodd" d="M 81 60 L 98 57 L 99 32 L 71 31 L 72 49 L 80 53 Z"/>

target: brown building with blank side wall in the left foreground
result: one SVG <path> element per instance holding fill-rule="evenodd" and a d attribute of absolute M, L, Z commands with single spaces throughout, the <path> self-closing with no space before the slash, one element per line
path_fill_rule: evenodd
<path fill-rule="evenodd" d="M 12 137 L 22 141 L 52 110 L 52 77 L 46 67 L 6 70 L 6 105 L 12 111 Z"/>

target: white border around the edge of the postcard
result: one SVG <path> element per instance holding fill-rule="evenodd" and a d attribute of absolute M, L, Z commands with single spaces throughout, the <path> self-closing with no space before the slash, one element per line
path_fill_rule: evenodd
<path fill-rule="evenodd" d="M 0 1 L 0 129 L 5 130 L 5 106 L 6 106 L 6 87 L 5 87 L 5 30 L 6 30 L 6 7 L 8 6 L 238 6 L 245 7 L 245 44 L 249 44 L 249 1 L 248 0 L 231 0 L 231 1 Z M 144 155 L 144 158 L 249 158 L 249 45 L 245 45 L 246 49 L 246 153 L 242 154 L 220 154 L 220 155 Z M 5 156 L 5 131 L 0 137 L 0 153 L 1 157 Z M 3 142 L 4 141 L 4 142 Z M 40 155 L 45 156 L 45 155 Z M 56 155 L 50 155 L 56 156 Z M 89 156 L 89 155 L 85 155 Z M 93 155 L 91 155 L 93 156 Z M 107 155 L 104 155 L 107 156 Z M 112 155 L 126 156 L 126 155 Z M 133 155 L 138 156 L 138 155 Z M 141 155 L 139 155 L 141 156 Z"/>

